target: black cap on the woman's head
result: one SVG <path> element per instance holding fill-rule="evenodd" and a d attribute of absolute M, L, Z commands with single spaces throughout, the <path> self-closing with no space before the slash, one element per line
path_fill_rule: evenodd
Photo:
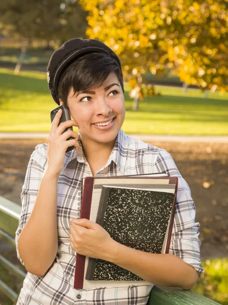
<path fill-rule="evenodd" d="M 52 98 L 58 105 L 60 105 L 58 98 L 58 85 L 63 69 L 77 56 L 90 52 L 105 53 L 110 55 L 116 60 L 121 69 L 119 57 L 103 42 L 96 39 L 82 40 L 79 38 L 68 40 L 62 45 L 62 47 L 54 51 L 47 66 L 47 81 L 49 90 Z"/>

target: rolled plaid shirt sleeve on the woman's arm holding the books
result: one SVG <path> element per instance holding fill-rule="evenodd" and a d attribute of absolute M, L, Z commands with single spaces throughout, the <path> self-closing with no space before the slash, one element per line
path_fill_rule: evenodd
<path fill-rule="evenodd" d="M 200 274 L 204 272 L 200 255 L 201 241 L 198 238 L 200 224 L 195 222 L 195 204 L 191 198 L 190 188 L 177 169 L 173 158 L 165 149 L 160 150 L 155 166 L 158 172 L 165 171 L 168 176 L 178 177 L 176 210 L 169 254 L 180 257 Z"/>

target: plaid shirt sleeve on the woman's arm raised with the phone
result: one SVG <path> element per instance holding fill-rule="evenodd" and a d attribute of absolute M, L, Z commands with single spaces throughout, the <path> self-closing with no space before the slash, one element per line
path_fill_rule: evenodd
<path fill-rule="evenodd" d="M 16 242 L 16 252 L 17 258 L 20 260 L 21 264 L 24 266 L 19 252 L 18 252 L 18 239 L 20 233 L 29 219 L 35 201 L 37 198 L 40 182 L 44 173 L 44 168 L 46 164 L 46 144 L 39 144 L 33 151 L 29 164 L 27 166 L 24 184 L 22 186 L 21 192 L 21 215 L 19 218 L 19 225 L 16 230 L 15 242 Z"/>

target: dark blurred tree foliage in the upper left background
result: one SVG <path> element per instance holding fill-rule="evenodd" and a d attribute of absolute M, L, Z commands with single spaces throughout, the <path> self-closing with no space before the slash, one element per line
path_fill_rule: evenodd
<path fill-rule="evenodd" d="M 8 35 L 47 41 L 86 38 L 87 13 L 73 0 L 8 0 L 0 3 L 0 11 Z"/>

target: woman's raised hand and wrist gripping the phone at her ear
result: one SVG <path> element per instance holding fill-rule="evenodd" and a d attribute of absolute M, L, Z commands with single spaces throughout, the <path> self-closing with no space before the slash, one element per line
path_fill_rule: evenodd
<path fill-rule="evenodd" d="M 67 120 L 58 126 L 62 111 L 60 109 L 55 115 L 47 138 L 47 169 L 56 175 L 60 175 L 63 169 L 67 148 L 69 146 L 75 146 L 75 149 L 79 147 L 78 134 L 72 130 L 64 132 L 68 127 L 78 126 L 77 122 L 75 120 Z M 74 140 L 67 141 L 69 137 L 73 137 Z"/>

